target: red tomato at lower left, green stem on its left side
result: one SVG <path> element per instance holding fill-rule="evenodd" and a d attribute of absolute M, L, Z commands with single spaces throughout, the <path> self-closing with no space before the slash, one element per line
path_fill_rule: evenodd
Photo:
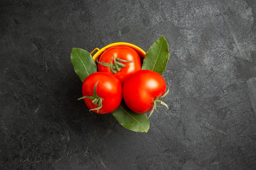
<path fill-rule="evenodd" d="M 84 97 L 80 99 L 84 99 L 86 106 L 94 113 L 110 113 L 121 103 L 122 85 L 112 74 L 96 72 L 85 78 L 82 93 Z"/>

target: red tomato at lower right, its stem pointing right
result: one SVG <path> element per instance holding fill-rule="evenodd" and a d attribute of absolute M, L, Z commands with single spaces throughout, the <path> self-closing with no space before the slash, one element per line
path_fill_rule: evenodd
<path fill-rule="evenodd" d="M 128 108 L 135 113 L 146 113 L 154 108 L 154 100 L 163 96 L 165 91 L 166 82 L 161 75 L 155 71 L 141 70 L 124 82 L 123 98 Z"/>

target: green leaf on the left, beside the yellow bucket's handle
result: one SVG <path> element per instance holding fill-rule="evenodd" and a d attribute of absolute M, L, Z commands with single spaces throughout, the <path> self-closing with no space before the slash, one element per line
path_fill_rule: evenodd
<path fill-rule="evenodd" d="M 82 82 L 88 75 L 97 72 L 97 66 L 92 55 L 84 49 L 73 48 L 70 59 Z"/>

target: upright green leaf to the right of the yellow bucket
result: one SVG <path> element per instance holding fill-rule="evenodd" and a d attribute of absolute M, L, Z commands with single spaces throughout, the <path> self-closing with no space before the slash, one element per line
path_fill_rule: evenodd
<path fill-rule="evenodd" d="M 146 52 L 141 70 L 152 70 L 160 75 L 164 73 L 169 59 L 168 43 L 162 35 Z"/>

